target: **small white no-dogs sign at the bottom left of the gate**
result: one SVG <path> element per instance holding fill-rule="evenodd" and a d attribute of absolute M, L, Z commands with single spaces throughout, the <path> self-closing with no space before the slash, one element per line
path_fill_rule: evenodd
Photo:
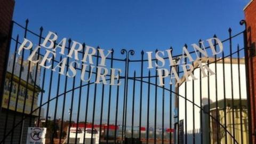
<path fill-rule="evenodd" d="M 46 128 L 28 127 L 27 144 L 44 144 Z"/>

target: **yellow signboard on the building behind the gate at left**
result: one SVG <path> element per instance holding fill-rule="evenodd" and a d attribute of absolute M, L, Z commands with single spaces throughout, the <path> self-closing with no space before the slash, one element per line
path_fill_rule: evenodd
<path fill-rule="evenodd" d="M 5 78 L 5 85 L 4 85 L 2 108 L 7 109 L 8 103 L 10 100 L 10 103 L 9 103 L 10 110 L 15 110 L 20 113 L 23 113 L 23 110 L 24 110 L 25 114 L 30 114 L 32 103 L 34 103 L 33 110 L 38 107 L 37 106 L 38 92 L 39 92 L 38 87 L 36 86 L 36 89 L 34 89 L 34 85 L 31 85 L 28 83 L 28 87 L 26 89 L 26 81 L 24 81 L 23 79 L 20 79 L 20 85 L 19 85 L 19 77 L 13 75 L 12 89 L 11 89 L 11 77 L 12 75 L 9 72 L 7 72 L 6 78 Z M 18 86 L 19 86 L 19 91 L 18 91 Z M 27 90 L 27 96 L 26 96 L 26 90 Z M 10 91 L 11 91 L 11 95 L 10 95 Z M 33 95 L 34 95 L 34 100 L 33 100 Z M 33 115 L 38 115 L 38 110 L 34 111 Z"/>

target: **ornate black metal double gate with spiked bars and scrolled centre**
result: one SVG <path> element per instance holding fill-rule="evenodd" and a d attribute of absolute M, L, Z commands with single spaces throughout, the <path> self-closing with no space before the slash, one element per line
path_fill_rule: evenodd
<path fill-rule="evenodd" d="M 225 50 L 215 57 L 203 58 L 200 53 L 215 75 L 208 71 L 203 77 L 199 66 L 191 63 L 198 78 L 187 82 L 184 71 L 175 66 L 181 83 L 170 85 L 167 77 L 163 78 L 165 85 L 159 86 L 157 69 L 147 69 L 145 52 L 123 49 L 121 54 L 112 50 L 106 60 L 110 68 L 122 69 L 121 85 L 103 85 L 94 83 L 96 68 L 86 70 L 85 76 L 91 80 L 83 82 L 79 78 L 82 69 L 76 65 L 77 75 L 69 78 L 60 74 L 60 68 L 53 71 L 26 60 L 33 51 L 22 50 L 19 55 L 23 38 L 38 41 L 38 45 L 45 38 L 43 27 L 37 34 L 28 24 L 28 20 L 25 26 L 13 21 L 1 96 L 0 143 L 26 143 L 28 127 L 46 127 L 45 143 L 250 143 L 246 30 L 233 35 L 229 29 L 228 38 L 222 41 Z M 71 39 L 65 53 L 70 45 Z M 39 50 L 37 59 L 44 54 Z M 190 54 L 195 57 L 197 53 Z M 179 60 L 180 56 L 173 58 Z M 100 59 L 99 53 L 93 57 L 96 66 Z M 55 57 L 50 66 L 60 61 L 62 57 Z M 107 77 L 110 81 L 109 74 Z"/>

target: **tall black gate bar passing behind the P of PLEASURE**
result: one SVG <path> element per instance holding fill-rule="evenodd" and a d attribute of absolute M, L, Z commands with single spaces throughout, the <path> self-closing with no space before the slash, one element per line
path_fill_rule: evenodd
<path fill-rule="evenodd" d="M 28 19 L 26 20 L 26 27 L 25 27 L 25 34 L 24 37 L 27 37 L 27 29 L 28 29 Z M 12 123 L 12 127 L 14 127 L 15 125 L 15 121 L 16 121 L 16 115 L 17 115 L 17 107 L 18 107 L 18 100 L 19 100 L 19 91 L 20 91 L 20 83 L 21 83 L 21 73 L 22 73 L 22 67 L 23 67 L 23 59 L 24 59 L 24 49 L 22 49 L 22 54 L 21 54 L 21 64 L 20 64 L 20 73 L 19 73 L 19 82 L 18 82 L 18 92 L 16 95 L 16 102 L 15 102 L 15 110 L 14 110 L 14 116 L 13 116 L 13 123 Z M 13 134 L 14 134 L 14 129 L 12 131 L 11 134 L 11 143 L 13 142 Z"/>

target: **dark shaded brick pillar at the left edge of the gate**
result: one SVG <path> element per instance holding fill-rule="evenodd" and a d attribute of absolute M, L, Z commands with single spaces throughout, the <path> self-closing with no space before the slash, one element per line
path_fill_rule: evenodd
<path fill-rule="evenodd" d="M 9 54 L 9 37 L 14 3 L 14 0 L 0 0 L 0 109 L 2 107 L 6 61 Z"/>

